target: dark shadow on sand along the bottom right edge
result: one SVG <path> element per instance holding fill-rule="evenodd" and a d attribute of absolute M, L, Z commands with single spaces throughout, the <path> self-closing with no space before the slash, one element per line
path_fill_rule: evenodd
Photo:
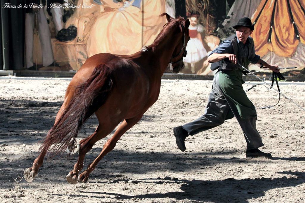
<path fill-rule="evenodd" d="M 85 192 L 78 191 L 78 197 L 104 198 L 100 195 L 114 195 L 113 199 L 131 200 L 132 198 L 151 199 L 151 198 L 174 198 L 177 200 L 196 200 L 202 202 L 248 202 L 252 198 L 259 198 L 265 195 L 265 192 L 271 189 L 283 187 L 295 187 L 305 182 L 304 172 L 283 171 L 281 174 L 289 174 L 296 177 L 287 178 L 285 175 L 280 178 L 255 178 L 241 179 L 228 178 L 225 180 L 179 180 L 179 179 L 144 179 L 133 181 L 134 184 L 141 182 L 155 184 L 181 184 L 182 191 L 139 194 L 139 195 L 124 195 L 109 192 Z M 118 181 L 126 181 L 124 179 Z M 111 183 L 110 183 L 111 184 Z M 259 186 L 259 187 L 257 187 Z M 230 191 L 230 192 L 228 192 Z M 65 194 L 52 194 L 65 196 Z M 71 196 L 67 194 L 68 196 Z M 99 195 L 99 196 L 97 196 Z M 110 197 L 108 197 L 110 198 Z"/>

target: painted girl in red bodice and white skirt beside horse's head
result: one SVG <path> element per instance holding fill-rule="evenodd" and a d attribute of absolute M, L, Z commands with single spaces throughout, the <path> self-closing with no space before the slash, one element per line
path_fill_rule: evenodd
<path fill-rule="evenodd" d="M 204 29 L 202 25 L 198 24 L 199 12 L 188 12 L 187 16 L 191 23 L 188 28 L 191 39 L 188 41 L 188 45 L 186 46 L 187 55 L 183 62 L 186 67 L 189 67 L 188 64 L 190 64 L 191 72 L 195 73 L 195 64 L 207 56 L 201 37 L 201 33 Z"/>

